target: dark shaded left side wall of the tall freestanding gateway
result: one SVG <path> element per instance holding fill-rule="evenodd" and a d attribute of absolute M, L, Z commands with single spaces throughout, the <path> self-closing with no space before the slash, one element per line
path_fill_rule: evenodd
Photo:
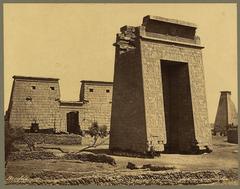
<path fill-rule="evenodd" d="M 121 41 L 117 36 L 117 43 Z M 135 46 L 122 51 L 116 45 L 110 148 L 142 152 L 146 149 L 147 136 L 139 42 Z"/>

